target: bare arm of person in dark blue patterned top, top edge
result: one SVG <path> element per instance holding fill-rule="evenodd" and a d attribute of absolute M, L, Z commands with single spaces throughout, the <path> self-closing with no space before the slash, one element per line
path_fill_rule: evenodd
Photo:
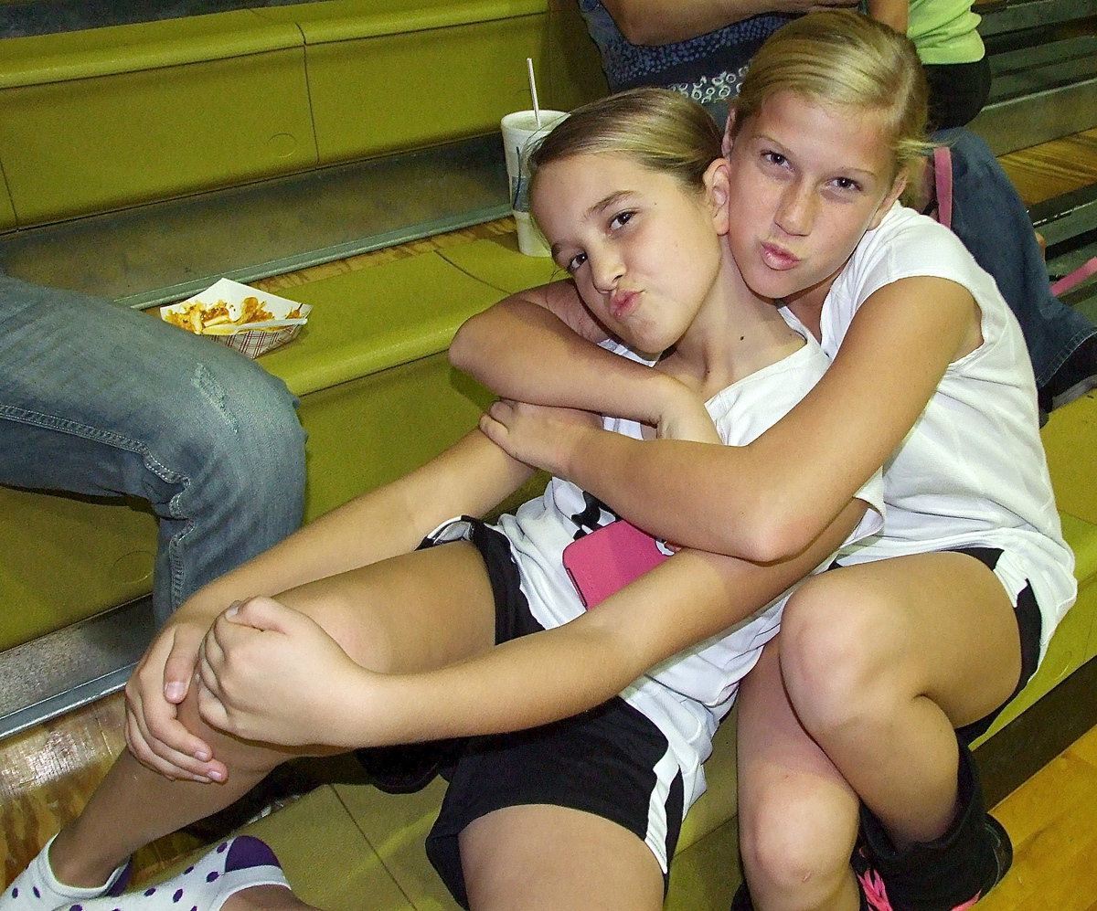
<path fill-rule="evenodd" d="M 695 38 L 760 13 L 803 13 L 856 5 L 856 0 L 603 0 L 603 4 L 630 43 L 657 45 Z"/>

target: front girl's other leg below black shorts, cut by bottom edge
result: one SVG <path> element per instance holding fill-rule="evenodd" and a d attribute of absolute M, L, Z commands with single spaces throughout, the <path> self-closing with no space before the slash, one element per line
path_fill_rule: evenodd
<path fill-rule="evenodd" d="M 506 807 L 470 823 L 461 857 L 474 911 L 658 911 L 663 872 L 634 833 L 550 805 Z"/>

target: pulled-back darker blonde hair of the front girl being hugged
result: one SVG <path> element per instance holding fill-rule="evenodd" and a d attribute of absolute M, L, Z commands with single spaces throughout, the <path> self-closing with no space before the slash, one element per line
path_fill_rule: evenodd
<path fill-rule="evenodd" d="M 695 101 L 668 89 L 630 89 L 577 107 L 557 124 L 530 153 L 531 180 L 553 161 L 613 152 L 701 192 L 722 138 Z"/>

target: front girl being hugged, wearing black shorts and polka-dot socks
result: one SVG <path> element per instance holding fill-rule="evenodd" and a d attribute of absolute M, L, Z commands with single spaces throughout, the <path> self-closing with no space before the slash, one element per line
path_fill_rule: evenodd
<path fill-rule="evenodd" d="M 581 299 L 613 329 L 603 353 L 675 398 L 657 422 L 555 421 L 636 445 L 743 444 L 823 375 L 818 345 L 734 267 L 728 167 L 698 105 L 658 90 L 598 102 L 536 161 L 534 212 L 572 276 L 553 293 Z M 428 843 L 457 900 L 657 911 L 712 733 L 777 630 L 778 596 L 879 528 L 882 491 L 855 491 L 794 554 L 771 557 L 765 540 L 750 548 L 764 565 L 678 550 L 588 612 L 562 554 L 615 522 L 612 499 L 554 479 L 495 525 L 450 521 L 483 515 L 531 470 L 474 431 L 183 605 L 128 687 L 131 751 L 0 909 L 299 909 L 246 838 L 150 891 L 97 896 L 122 888 L 134 850 L 290 756 L 482 735 Z M 700 525 L 672 538 L 720 549 Z"/>

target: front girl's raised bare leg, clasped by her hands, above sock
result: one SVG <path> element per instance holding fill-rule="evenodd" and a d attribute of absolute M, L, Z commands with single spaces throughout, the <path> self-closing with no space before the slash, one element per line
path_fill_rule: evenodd
<path fill-rule="evenodd" d="M 323 579 L 280 600 L 316 619 L 355 661 L 381 671 L 438 667 L 488 649 L 495 639 L 490 584 L 479 555 L 465 543 Z M 223 809 L 275 765 L 304 752 L 214 731 L 199 718 L 193 698 L 180 711 L 226 762 L 228 782 L 168 779 L 123 752 L 52 846 L 50 863 L 63 882 L 102 884 L 137 847 Z"/>

